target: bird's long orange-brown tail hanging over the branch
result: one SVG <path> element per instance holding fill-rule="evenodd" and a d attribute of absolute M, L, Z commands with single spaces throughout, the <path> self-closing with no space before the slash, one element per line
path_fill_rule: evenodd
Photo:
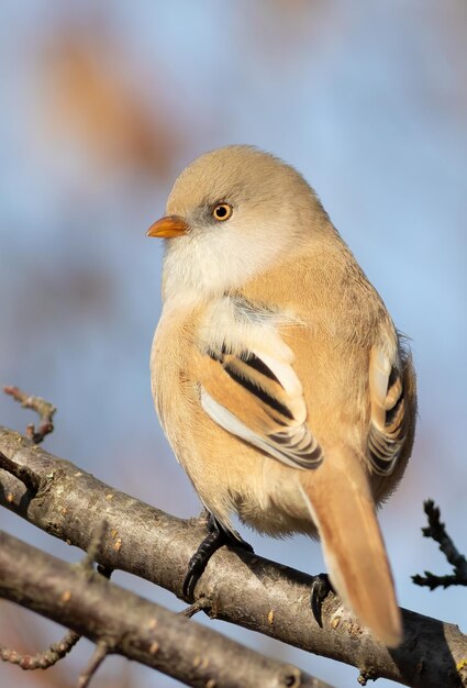
<path fill-rule="evenodd" d="M 301 482 L 335 590 L 378 640 L 397 647 L 401 613 L 365 467 L 352 453 L 326 452 Z"/>

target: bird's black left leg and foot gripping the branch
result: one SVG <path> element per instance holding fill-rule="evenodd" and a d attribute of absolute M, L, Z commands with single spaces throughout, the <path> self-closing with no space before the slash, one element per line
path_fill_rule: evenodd
<path fill-rule="evenodd" d="M 253 552 L 252 545 L 248 545 L 240 535 L 227 531 L 212 513 L 209 513 L 208 535 L 191 557 L 188 564 L 187 575 L 185 576 L 182 592 L 186 599 L 192 599 L 194 586 L 204 572 L 209 559 L 214 552 L 223 545 L 232 545 L 234 547 L 242 547 L 247 552 Z"/>

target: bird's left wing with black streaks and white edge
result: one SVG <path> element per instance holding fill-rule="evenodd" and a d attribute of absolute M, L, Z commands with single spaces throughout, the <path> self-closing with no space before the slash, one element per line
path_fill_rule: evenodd
<path fill-rule="evenodd" d="M 210 329 L 211 342 L 204 337 L 197 366 L 201 406 L 224 430 L 270 456 L 315 468 L 323 456 L 307 424 L 293 354 L 275 328 L 248 318 L 238 326 L 237 310 L 227 340 L 219 329 Z"/>

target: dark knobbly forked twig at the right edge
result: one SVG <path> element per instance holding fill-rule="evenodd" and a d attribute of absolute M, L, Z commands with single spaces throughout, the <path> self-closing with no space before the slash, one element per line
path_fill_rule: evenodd
<path fill-rule="evenodd" d="M 425 537 L 432 537 L 432 540 L 438 543 L 440 550 L 454 568 L 454 574 L 437 576 L 425 570 L 424 576 L 420 576 L 419 574 L 412 576 L 413 582 L 418 586 L 427 587 L 430 590 L 434 590 L 441 586 L 443 586 L 443 588 L 455 585 L 467 586 L 467 559 L 459 553 L 453 540 L 447 534 L 446 526 L 441 521 L 440 508 L 435 506 L 432 499 L 427 499 L 424 502 L 424 511 L 429 519 L 429 525 L 422 528 L 422 533 Z"/>

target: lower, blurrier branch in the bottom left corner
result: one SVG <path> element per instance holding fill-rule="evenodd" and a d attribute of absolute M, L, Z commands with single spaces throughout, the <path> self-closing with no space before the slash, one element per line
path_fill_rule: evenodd
<path fill-rule="evenodd" d="M 0 597 L 96 643 L 85 688 L 108 654 L 121 654 L 199 688 L 331 688 L 216 631 L 66 564 L 0 531 Z"/>

